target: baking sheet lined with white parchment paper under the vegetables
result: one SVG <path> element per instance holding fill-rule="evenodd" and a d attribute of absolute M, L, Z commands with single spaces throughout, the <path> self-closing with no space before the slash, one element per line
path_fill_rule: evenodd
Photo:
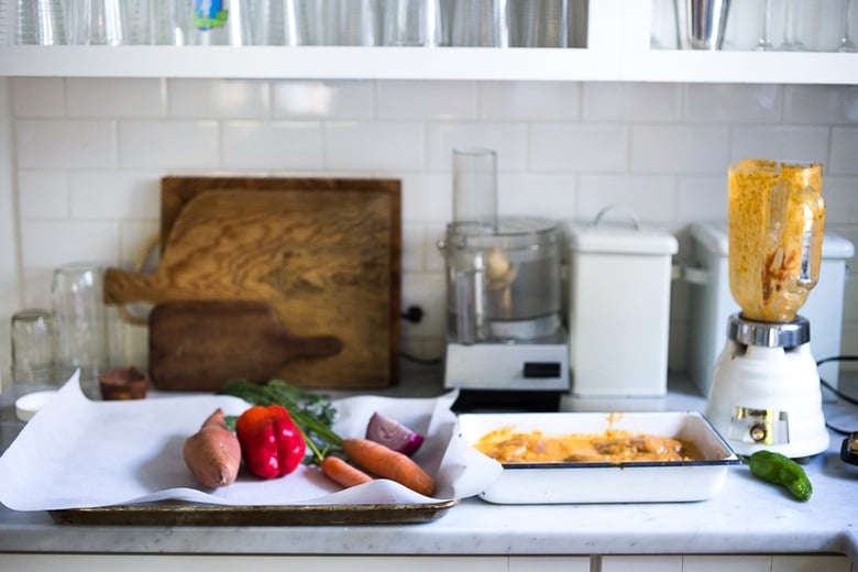
<path fill-rule="evenodd" d="M 373 413 L 426 436 L 414 459 L 435 497 L 377 479 L 342 488 L 316 466 L 260 480 L 246 469 L 230 486 L 201 487 L 182 447 L 212 410 L 240 415 L 231 396 L 162 393 L 133 402 L 87 399 L 73 376 L 0 457 L 0 502 L 45 510 L 59 522 L 206 526 L 424 522 L 474 496 L 501 472 L 455 432 L 455 393 L 436 398 L 372 395 L 333 400 L 334 431 L 362 437 Z M 58 430 L 62 428 L 62 430 Z"/>

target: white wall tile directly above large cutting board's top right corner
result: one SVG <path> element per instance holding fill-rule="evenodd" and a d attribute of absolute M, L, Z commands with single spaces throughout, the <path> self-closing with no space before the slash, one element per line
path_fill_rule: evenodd
<path fill-rule="evenodd" d="M 417 170 L 425 165 L 420 123 L 333 122 L 322 136 L 328 168 Z"/>

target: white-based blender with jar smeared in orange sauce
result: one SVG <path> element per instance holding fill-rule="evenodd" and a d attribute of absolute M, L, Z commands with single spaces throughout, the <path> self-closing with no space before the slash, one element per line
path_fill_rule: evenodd
<path fill-rule="evenodd" d="M 705 415 L 737 454 L 804 459 L 828 448 L 810 321 L 798 314 L 820 277 L 822 165 L 729 166 L 728 318 Z"/>

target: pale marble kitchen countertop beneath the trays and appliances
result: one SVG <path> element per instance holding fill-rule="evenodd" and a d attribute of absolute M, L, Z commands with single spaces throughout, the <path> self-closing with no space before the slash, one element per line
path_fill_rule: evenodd
<path fill-rule="evenodd" d="M 413 371 L 411 371 L 413 370 Z M 405 381 L 383 395 L 438 395 L 437 374 L 406 367 Z M 704 399 L 682 378 L 671 378 L 663 399 L 610 402 L 615 410 L 701 409 Z M 858 375 L 842 389 L 858 395 Z M 0 444 L 21 424 L 12 392 L 0 395 Z M 563 409 L 593 410 L 604 403 L 564 398 Z M 858 429 L 855 406 L 826 394 L 826 419 Z M 810 502 L 793 501 L 746 466 L 730 468 L 712 499 L 676 504 L 499 506 L 464 499 L 431 522 L 403 526 L 110 527 L 54 524 L 45 513 L 0 507 L 0 552 L 138 554 L 778 554 L 831 552 L 858 561 L 858 466 L 839 459 L 844 437 L 805 470 Z M 0 561 L 2 561 L 0 554 Z"/>

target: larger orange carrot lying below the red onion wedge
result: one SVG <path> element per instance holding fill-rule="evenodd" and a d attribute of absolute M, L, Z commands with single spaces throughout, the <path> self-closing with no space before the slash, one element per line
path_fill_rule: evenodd
<path fill-rule="evenodd" d="M 403 453 L 375 441 L 358 438 L 343 439 L 342 449 L 364 471 L 396 481 L 421 495 L 432 496 L 435 493 L 432 477 Z"/>

